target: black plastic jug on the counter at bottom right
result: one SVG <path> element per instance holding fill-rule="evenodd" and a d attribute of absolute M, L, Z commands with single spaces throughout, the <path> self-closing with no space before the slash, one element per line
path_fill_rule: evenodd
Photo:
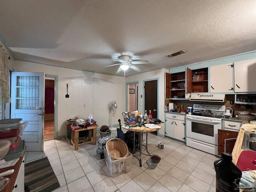
<path fill-rule="evenodd" d="M 214 161 L 216 192 L 239 192 L 241 170 L 232 162 L 232 155 L 222 152 L 221 159 Z"/>

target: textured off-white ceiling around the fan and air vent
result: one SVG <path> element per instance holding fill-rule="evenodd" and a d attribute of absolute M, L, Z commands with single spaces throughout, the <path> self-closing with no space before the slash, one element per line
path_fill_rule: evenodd
<path fill-rule="evenodd" d="M 126 75 L 256 50 L 256 0 L 0 0 L 0 39 L 16 60 Z M 166 55 L 185 50 L 186 54 Z"/>

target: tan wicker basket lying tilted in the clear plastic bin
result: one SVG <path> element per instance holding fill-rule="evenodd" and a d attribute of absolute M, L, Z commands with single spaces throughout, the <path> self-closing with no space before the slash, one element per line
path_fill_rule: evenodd
<path fill-rule="evenodd" d="M 106 151 L 111 157 L 111 160 L 126 158 L 129 153 L 126 143 L 118 138 L 112 138 L 107 141 Z"/>

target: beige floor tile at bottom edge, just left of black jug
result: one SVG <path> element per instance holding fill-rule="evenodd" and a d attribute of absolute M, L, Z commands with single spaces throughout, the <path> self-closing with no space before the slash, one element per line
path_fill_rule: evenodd
<path fill-rule="evenodd" d="M 207 184 L 206 182 L 194 177 L 194 176 L 190 176 L 188 178 L 188 180 L 185 182 L 186 185 L 190 186 L 191 188 L 193 188 L 194 190 L 196 190 L 197 192 L 206 192 L 210 189 L 210 185 Z"/>

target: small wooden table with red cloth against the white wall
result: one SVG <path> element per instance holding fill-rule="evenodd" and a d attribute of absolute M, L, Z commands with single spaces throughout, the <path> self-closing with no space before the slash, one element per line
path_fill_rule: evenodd
<path fill-rule="evenodd" d="M 67 126 L 72 130 L 71 143 L 74 145 L 74 150 L 78 150 L 78 146 L 92 143 L 96 145 L 96 129 L 98 125 L 95 123 L 84 126 L 77 126 L 76 124 L 70 124 L 66 122 Z M 79 139 L 84 139 L 86 137 L 79 137 L 79 132 L 88 130 L 88 141 L 79 143 Z"/>

